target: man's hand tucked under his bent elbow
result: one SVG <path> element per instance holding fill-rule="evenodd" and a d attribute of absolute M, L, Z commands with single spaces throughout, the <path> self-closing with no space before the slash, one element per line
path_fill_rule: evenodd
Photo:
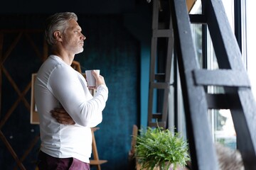
<path fill-rule="evenodd" d="M 70 117 L 64 108 L 54 108 L 54 110 L 50 111 L 50 113 L 52 113 L 53 118 L 55 118 L 60 124 L 75 125 L 75 121 Z"/>

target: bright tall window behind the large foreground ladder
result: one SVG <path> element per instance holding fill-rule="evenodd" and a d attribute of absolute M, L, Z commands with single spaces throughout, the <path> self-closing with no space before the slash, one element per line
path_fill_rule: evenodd
<path fill-rule="evenodd" d="M 256 1 L 223 0 L 223 6 L 225 8 L 225 13 L 228 16 L 228 21 L 230 22 L 230 26 L 233 29 L 234 34 L 235 22 L 237 22 L 237 26 L 238 24 L 240 24 L 240 40 L 238 40 L 238 42 L 240 43 L 242 51 L 242 61 L 244 62 L 245 68 L 247 69 L 247 73 L 252 84 L 252 92 L 254 96 L 256 96 L 256 47 L 254 42 L 254 40 L 256 40 L 256 25 L 254 23 Z M 240 18 L 236 18 L 236 16 L 239 16 L 239 13 L 236 13 L 235 15 L 235 7 L 237 7 L 236 10 L 238 10 L 238 12 L 241 14 Z M 196 4 L 194 4 L 190 13 L 201 13 L 201 0 L 196 1 Z M 207 26 L 201 24 L 192 24 L 191 31 L 193 34 L 196 55 L 200 67 L 205 69 L 218 69 L 218 63 L 216 62 L 215 52 L 213 49 L 212 42 L 210 40 L 210 34 L 208 32 Z M 176 61 L 174 61 L 172 64 L 174 64 L 175 62 Z M 174 70 L 174 72 L 172 71 L 171 73 L 178 75 L 177 70 Z M 171 75 L 171 77 L 175 76 Z M 178 127 L 178 131 L 181 131 L 183 134 L 186 134 L 186 130 L 184 128 L 186 127 L 186 125 L 184 125 L 185 120 L 183 114 L 181 86 L 179 79 L 176 79 L 174 81 L 177 81 L 177 97 L 174 100 L 171 99 L 169 106 L 171 106 L 170 108 L 173 108 L 173 106 L 177 108 L 176 112 L 178 113 L 178 118 L 175 118 L 177 119 L 175 120 L 176 127 Z M 221 94 L 224 92 L 224 89 L 222 87 L 216 86 L 208 86 L 206 90 L 210 94 Z M 173 95 L 174 90 L 171 89 L 170 93 Z M 176 112 L 174 111 L 174 113 Z M 169 116 L 169 125 L 173 125 L 175 124 L 175 116 L 172 114 L 173 111 L 169 111 L 169 113 L 171 113 L 171 116 Z M 214 142 L 221 142 L 227 147 L 236 149 L 236 133 L 233 125 L 233 119 L 230 114 L 230 110 L 209 110 L 208 122 L 210 125 Z"/>

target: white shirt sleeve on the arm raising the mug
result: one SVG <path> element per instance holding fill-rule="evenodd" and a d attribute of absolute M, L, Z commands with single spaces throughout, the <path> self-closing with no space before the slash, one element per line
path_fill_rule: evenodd
<path fill-rule="evenodd" d="M 78 78 L 78 73 L 72 67 L 63 65 L 53 70 L 48 86 L 75 123 L 95 127 L 102 122 L 102 111 L 108 97 L 107 86 L 98 86 L 97 93 L 92 97 L 86 84 Z"/>

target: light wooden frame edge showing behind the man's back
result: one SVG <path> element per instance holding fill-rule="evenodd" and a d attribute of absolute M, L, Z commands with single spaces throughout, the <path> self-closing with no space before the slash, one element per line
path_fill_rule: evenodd
<path fill-rule="evenodd" d="M 36 81 L 36 73 L 31 76 L 31 124 L 39 124 L 39 116 L 36 108 L 35 96 L 34 96 L 34 84 Z"/>

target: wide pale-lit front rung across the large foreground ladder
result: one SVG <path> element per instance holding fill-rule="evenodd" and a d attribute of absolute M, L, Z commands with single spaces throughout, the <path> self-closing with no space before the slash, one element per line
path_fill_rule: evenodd
<path fill-rule="evenodd" d="M 247 73 L 231 69 L 195 69 L 194 81 L 202 86 L 235 86 L 250 87 Z"/>

